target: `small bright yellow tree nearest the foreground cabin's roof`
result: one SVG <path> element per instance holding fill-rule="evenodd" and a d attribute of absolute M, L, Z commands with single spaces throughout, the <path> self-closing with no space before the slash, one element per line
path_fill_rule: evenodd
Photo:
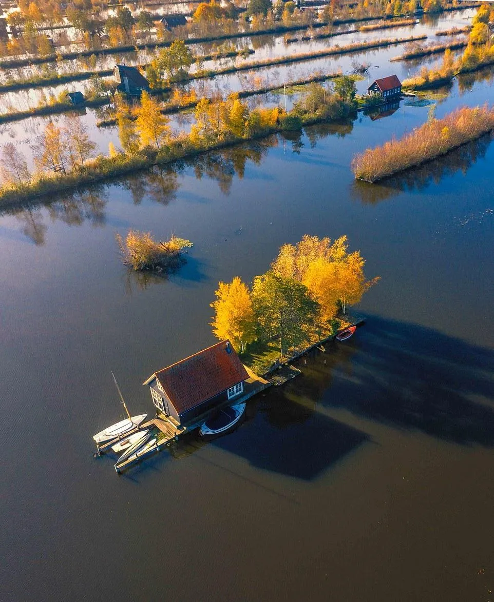
<path fill-rule="evenodd" d="M 245 344 L 255 338 L 255 317 L 247 285 L 235 276 L 229 284 L 220 282 L 215 295 L 218 299 L 211 303 L 215 337 L 230 339 L 235 349 L 244 352 Z"/>

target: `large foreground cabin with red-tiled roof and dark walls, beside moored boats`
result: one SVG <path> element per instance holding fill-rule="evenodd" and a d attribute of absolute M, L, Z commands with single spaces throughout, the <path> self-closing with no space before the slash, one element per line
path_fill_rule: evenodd
<path fill-rule="evenodd" d="M 249 378 L 230 341 L 212 347 L 163 368 L 143 383 L 149 385 L 158 412 L 180 424 L 236 400 Z"/>

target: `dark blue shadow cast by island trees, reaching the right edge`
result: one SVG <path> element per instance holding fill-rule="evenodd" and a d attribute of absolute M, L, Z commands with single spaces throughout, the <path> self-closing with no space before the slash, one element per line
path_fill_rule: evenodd
<path fill-rule="evenodd" d="M 359 333 L 357 333 L 359 334 Z M 325 403 L 456 444 L 494 445 L 494 352 L 373 316 Z"/>

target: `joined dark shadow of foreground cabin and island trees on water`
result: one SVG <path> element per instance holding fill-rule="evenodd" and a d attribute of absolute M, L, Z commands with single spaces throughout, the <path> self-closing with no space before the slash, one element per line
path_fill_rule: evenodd
<path fill-rule="evenodd" d="M 371 438 L 329 417 L 342 408 L 393 429 L 494 445 L 494 352 L 414 324 L 369 317 L 302 376 L 250 402 L 252 417 L 212 442 L 263 470 L 311 480 Z"/>

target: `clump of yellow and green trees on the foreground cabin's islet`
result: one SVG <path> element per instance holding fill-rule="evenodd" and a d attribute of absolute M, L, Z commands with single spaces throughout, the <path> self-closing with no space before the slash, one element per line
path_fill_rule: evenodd
<path fill-rule="evenodd" d="M 359 251 L 348 252 L 346 236 L 284 244 L 252 286 L 238 276 L 219 283 L 214 335 L 228 338 L 253 371 L 267 373 L 351 323 L 348 306 L 379 280 L 366 279 L 364 264 Z"/>

